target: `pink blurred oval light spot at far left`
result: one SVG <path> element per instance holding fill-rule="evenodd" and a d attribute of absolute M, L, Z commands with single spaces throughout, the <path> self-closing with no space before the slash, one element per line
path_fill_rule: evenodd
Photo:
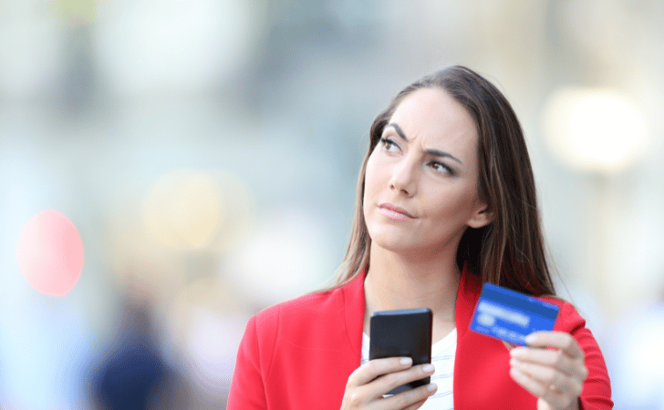
<path fill-rule="evenodd" d="M 18 236 L 18 269 L 37 291 L 63 296 L 83 271 L 83 242 L 71 220 L 44 210 L 28 220 Z"/>

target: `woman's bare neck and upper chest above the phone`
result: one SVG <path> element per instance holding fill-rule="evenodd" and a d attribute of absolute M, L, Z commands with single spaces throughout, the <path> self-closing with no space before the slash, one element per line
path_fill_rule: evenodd
<path fill-rule="evenodd" d="M 456 257 L 408 258 L 372 243 L 364 282 L 365 330 L 371 313 L 423 307 L 431 309 L 434 324 L 453 328 L 460 275 Z"/>

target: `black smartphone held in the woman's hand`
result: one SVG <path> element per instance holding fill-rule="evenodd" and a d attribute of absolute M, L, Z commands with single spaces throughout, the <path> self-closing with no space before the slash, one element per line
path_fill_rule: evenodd
<path fill-rule="evenodd" d="M 379 311 L 371 314 L 369 329 L 368 358 L 410 357 L 412 364 L 431 363 L 431 309 L 402 309 Z M 401 385 L 388 395 L 414 389 L 431 383 L 425 377 L 409 384 Z"/>

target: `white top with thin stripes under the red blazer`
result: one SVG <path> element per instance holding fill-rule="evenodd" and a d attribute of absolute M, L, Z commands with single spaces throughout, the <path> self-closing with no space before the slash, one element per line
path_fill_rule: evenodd
<path fill-rule="evenodd" d="M 362 333 L 362 364 L 368 362 L 367 333 Z M 431 364 L 436 368 L 431 375 L 431 383 L 438 384 L 438 391 L 424 402 L 420 410 L 452 410 L 452 380 L 454 375 L 454 354 L 456 354 L 456 328 L 441 341 L 431 346 Z"/>

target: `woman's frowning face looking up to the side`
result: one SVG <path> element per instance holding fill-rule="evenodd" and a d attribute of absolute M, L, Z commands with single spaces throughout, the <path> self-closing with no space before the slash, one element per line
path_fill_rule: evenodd
<path fill-rule="evenodd" d="M 405 97 L 368 158 L 371 240 L 389 251 L 456 255 L 467 227 L 491 221 L 478 196 L 477 144 L 471 115 L 447 92 L 421 88 Z"/>

